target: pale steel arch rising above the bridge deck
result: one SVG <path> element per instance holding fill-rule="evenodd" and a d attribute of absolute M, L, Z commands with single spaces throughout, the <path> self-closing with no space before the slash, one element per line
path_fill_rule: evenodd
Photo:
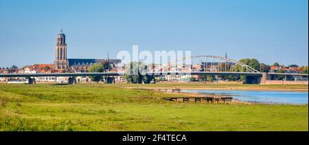
<path fill-rule="evenodd" d="M 260 71 L 241 63 L 240 61 L 233 60 L 231 58 L 222 57 L 222 56 L 191 56 L 189 58 L 181 58 L 176 61 L 170 61 L 165 65 L 162 65 L 163 68 L 168 68 L 171 66 L 177 66 L 177 64 L 184 63 L 187 60 L 190 61 L 190 65 L 199 65 L 201 68 L 192 69 L 191 72 L 196 71 L 203 71 L 203 72 L 245 72 L 245 73 L 252 73 L 252 74 L 260 74 Z M 197 62 L 194 62 L 196 61 Z M 193 62 L 192 62 L 193 61 Z M 155 68 L 155 71 L 162 70 L 162 68 Z M 179 71 L 179 69 L 171 69 L 169 71 Z M 183 70 L 181 70 L 183 71 Z"/>

